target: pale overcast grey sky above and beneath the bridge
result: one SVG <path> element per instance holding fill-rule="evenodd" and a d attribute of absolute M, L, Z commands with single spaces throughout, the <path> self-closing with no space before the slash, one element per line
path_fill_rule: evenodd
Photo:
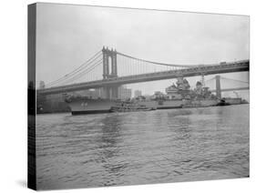
<path fill-rule="evenodd" d="M 36 81 L 37 84 L 40 80 L 48 83 L 65 76 L 102 46 L 172 64 L 248 59 L 249 27 L 249 17 L 241 15 L 38 4 Z M 222 76 L 248 79 L 248 73 Z M 199 79 L 191 77 L 189 82 L 193 85 Z M 170 82 L 162 80 L 128 87 L 152 94 L 156 90 L 163 91 Z"/>

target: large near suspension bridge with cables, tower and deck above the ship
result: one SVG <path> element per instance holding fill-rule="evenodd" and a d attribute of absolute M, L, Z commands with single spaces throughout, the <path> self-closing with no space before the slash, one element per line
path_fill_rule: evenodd
<path fill-rule="evenodd" d="M 67 75 L 47 83 L 43 89 L 37 89 L 37 94 L 52 95 L 102 87 L 103 97 L 117 98 L 118 86 L 179 76 L 207 76 L 249 71 L 249 64 L 249 60 L 209 65 L 159 63 L 128 56 L 117 50 L 103 47 L 102 50 Z M 230 90 L 234 89 L 230 88 Z M 241 87 L 240 89 L 246 88 Z M 216 78 L 215 92 L 220 93 L 220 78 L 218 77 Z"/>

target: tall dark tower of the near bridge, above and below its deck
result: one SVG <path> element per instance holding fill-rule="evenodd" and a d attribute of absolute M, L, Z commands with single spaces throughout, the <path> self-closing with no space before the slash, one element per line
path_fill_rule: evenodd
<path fill-rule="evenodd" d="M 103 79 L 118 76 L 117 51 L 110 50 L 103 46 Z M 118 85 L 103 87 L 103 95 L 105 98 L 118 98 Z"/>

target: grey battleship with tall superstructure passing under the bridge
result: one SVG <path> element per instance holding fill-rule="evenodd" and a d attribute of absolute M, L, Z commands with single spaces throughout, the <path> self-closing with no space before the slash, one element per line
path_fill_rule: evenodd
<path fill-rule="evenodd" d="M 186 108 L 186 107 L 214 107 L 239 105 L 241 97 L 218 98 L 210 92 L 209 87 L 198 81 L 194 89 L 190 88 L 186 78 L 178 77 L 176 84 L 166 88 L 166 94 L 155 92 L 146 98 L 138 96 L 127 100 L 90 98 L 88 96 L 66 96 L 65 101 L 71 109 L 72 115 L 97 114 L 111 112 L 148 111 L 157 109 Z"/>

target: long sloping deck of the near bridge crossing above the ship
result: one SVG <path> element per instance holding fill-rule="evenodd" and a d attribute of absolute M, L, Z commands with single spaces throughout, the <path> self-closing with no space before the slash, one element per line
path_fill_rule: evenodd
<path fill-rule="evenodd" d="M 126 84 L 134 84 L 139 82 L 148 82 L 162 79 L 177 78 L 179 76 L 201 76 L 201 75 L 215 75 L 223 73 L 243 72 L 249 71 L 250 60 L 241 60 L 229 63 L 220 63 L 218 65 L 200 65 L 177 70 L 168 70 L 154 73 L 146 73 L 131 76 L 108 76 L 102 80 L 89 81 L 79 84 L 72 84 L 67 86 L 53 86 L 44 89 L 38 89 L 37 94 L 51 95 L 59 93 L 68 93 L 78 90 L 86 90 L 98 87 L 117 87 Z"/>

